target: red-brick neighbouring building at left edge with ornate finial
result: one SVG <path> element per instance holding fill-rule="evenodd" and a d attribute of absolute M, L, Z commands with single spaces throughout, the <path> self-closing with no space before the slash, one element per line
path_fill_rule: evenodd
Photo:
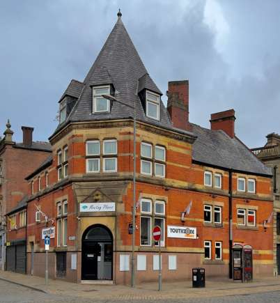
<path fill-rule="evenodd" d="M 13 130 L 10 129 L 9 121 L 6 127 L 3 139 L 0 139 L 0 270 L 5 268 L 6 244 L 8 244 L 8 268 L 24 272 L 26 256 L 25 225 L 22 225 L 24 221 L 13 225 L 16 237 L 14 241 L 8 242 L 5 215 L 20 206 L 19 209 L 22 211 L 20 216 L 24 220 L 25 212 L 22 203 L 28 192 L 26 174 L 34 171 L 51 153 L 51 146 L 46 142 L 32 140 L 33 127 L 22 126 L 22 142 L 13 141 Z"/>

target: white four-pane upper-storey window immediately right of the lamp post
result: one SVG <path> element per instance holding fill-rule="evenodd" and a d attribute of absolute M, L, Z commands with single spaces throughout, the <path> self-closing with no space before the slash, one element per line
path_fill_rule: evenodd
<path fill-rule="evenodd" d="M 141 173 L 143 175 L 152 176 L 153 164 L 153 146 L 150 143 L 141 143 Z M 163 146 L 155 146 L 155 163 L 154 163 L 154 176 L 165 177 L 165 158 L 166 152 Z"/>

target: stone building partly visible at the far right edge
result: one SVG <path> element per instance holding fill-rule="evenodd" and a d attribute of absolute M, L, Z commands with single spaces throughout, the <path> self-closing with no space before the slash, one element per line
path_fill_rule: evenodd
<path fill-rule="evenodd" d="M 260 148 L 253 148 L 253 153 L 266 166 L 271 167 L 273 173 L 274 214 L 273 219 L 273 256 L 274 274 L 280 274 L 280 136 L 267 134 L 267 143 Z"/>

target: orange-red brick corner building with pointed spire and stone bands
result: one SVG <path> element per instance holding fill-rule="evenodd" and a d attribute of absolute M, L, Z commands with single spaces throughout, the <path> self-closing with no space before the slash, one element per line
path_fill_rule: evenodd
<path fill-rule="evenodd" d="M 27 273 L 68 281 L 129 283 L 132 251 L 133 116 L 136 136 L 137 282 L 157 279 L 162 227 L 163 279 L 192 267 L 228 277 L 231 247 L 254 249 L 254 274 L 273 268 L 271 172 L 235 137 L 233 109 L 211 129 L 189 123 L 188 81 L 170 81 L 167 108 L 118 13 L 84 81 L 59 100 L 52 156 L 26 180 Z"/>

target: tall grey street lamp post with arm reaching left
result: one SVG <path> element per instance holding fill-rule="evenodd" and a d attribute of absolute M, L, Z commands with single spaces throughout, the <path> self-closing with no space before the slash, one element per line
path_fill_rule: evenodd
<path fill-rule="evenodd" d="M 133 109 L 133 207 L 132 207 L 132 256 L 131 256 L 131 286 L 135 287 L 135 215 L 136 215 L 136 100 L 134 107 L 117 100 L 113 95 L 102 95 L 103 98 L 118 102 Z"/>

